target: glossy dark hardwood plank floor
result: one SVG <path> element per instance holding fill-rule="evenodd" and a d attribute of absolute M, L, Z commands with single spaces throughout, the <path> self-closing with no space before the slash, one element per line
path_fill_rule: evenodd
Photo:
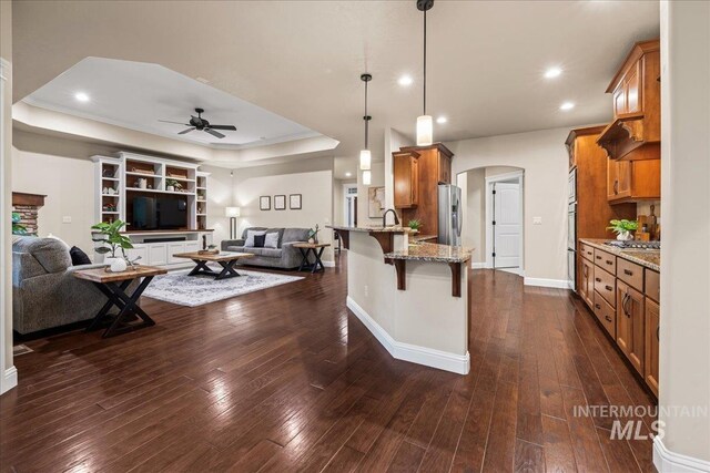
<path fill-rule="evenodd" d="M 345 308 L 343 267 L 28 342 L 2 471 L 653 471 L 650 441 L 574 415 L 653 403 L 578 300 L 489 270 L 469 294 L 466 377 L 392 359 Z"/>

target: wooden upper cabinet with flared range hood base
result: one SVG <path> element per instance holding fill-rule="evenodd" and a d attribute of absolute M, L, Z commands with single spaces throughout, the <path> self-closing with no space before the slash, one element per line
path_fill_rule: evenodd
<path fill-rule="evenodd" d="M 613 121 L 597 143 L 611 160 L 660 158 L 661 84 L 659 40 L 636 43 L 607 89 Z"/>

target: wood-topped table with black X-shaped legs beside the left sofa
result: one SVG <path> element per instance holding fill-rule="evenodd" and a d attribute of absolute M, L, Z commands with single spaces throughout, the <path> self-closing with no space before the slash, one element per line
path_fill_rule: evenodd
<path fill-rule="evenodd" d="M 106 320 L 110 321 L 111 325 L 103 332 L 103 338 L 154 326 L 155 321 L 151 319 L 136 302 L 141 294 L 143 294 L 148 285 L 153 280 L 153 277 L 164 275 L 165 273 L 168 273 L 165 269 L 153 266 L 136 266 L 123 273 L 110 273 L 106 271 L 105 268 L 79 269 L 74 271 L 73 275 L 75 278 L 93 282 L 94 286 L 109 298 L 106 304 L 104 304 L 95 315 L 91 325 L 87 327 L 87 331 L 101 328 Z M 129 295 L 125 291 L 128 287 L 133 280 L 141 278 L 142 280 L 135 290 Z M 109 310 L 111 310 L 113 306 L 119 308 L 116 316 L 109 315 Z M 140 317 L 143 321 L 129 323 L 129 321 L 135 319 L 135 317 Z"/>

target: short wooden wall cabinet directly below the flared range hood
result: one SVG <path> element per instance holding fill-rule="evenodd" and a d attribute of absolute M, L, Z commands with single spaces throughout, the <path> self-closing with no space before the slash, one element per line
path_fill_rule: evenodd
<path fill-rule="evenodd" d="M 626 204 L 661 198 L 661 161 L 607 158 L 607 199 Z"/>

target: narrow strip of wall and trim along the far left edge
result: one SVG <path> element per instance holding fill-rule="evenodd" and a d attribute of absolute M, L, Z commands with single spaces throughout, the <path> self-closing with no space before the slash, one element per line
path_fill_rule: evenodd
<path fill-rule="evenodd" d="M 0 58 L 2 58 L 2 141 L 0 143 L 0 393 L 10 389 L 12 364 L 12 237 L 7 222 L 12 202 L 12 3 L 0 2 Z"/>

